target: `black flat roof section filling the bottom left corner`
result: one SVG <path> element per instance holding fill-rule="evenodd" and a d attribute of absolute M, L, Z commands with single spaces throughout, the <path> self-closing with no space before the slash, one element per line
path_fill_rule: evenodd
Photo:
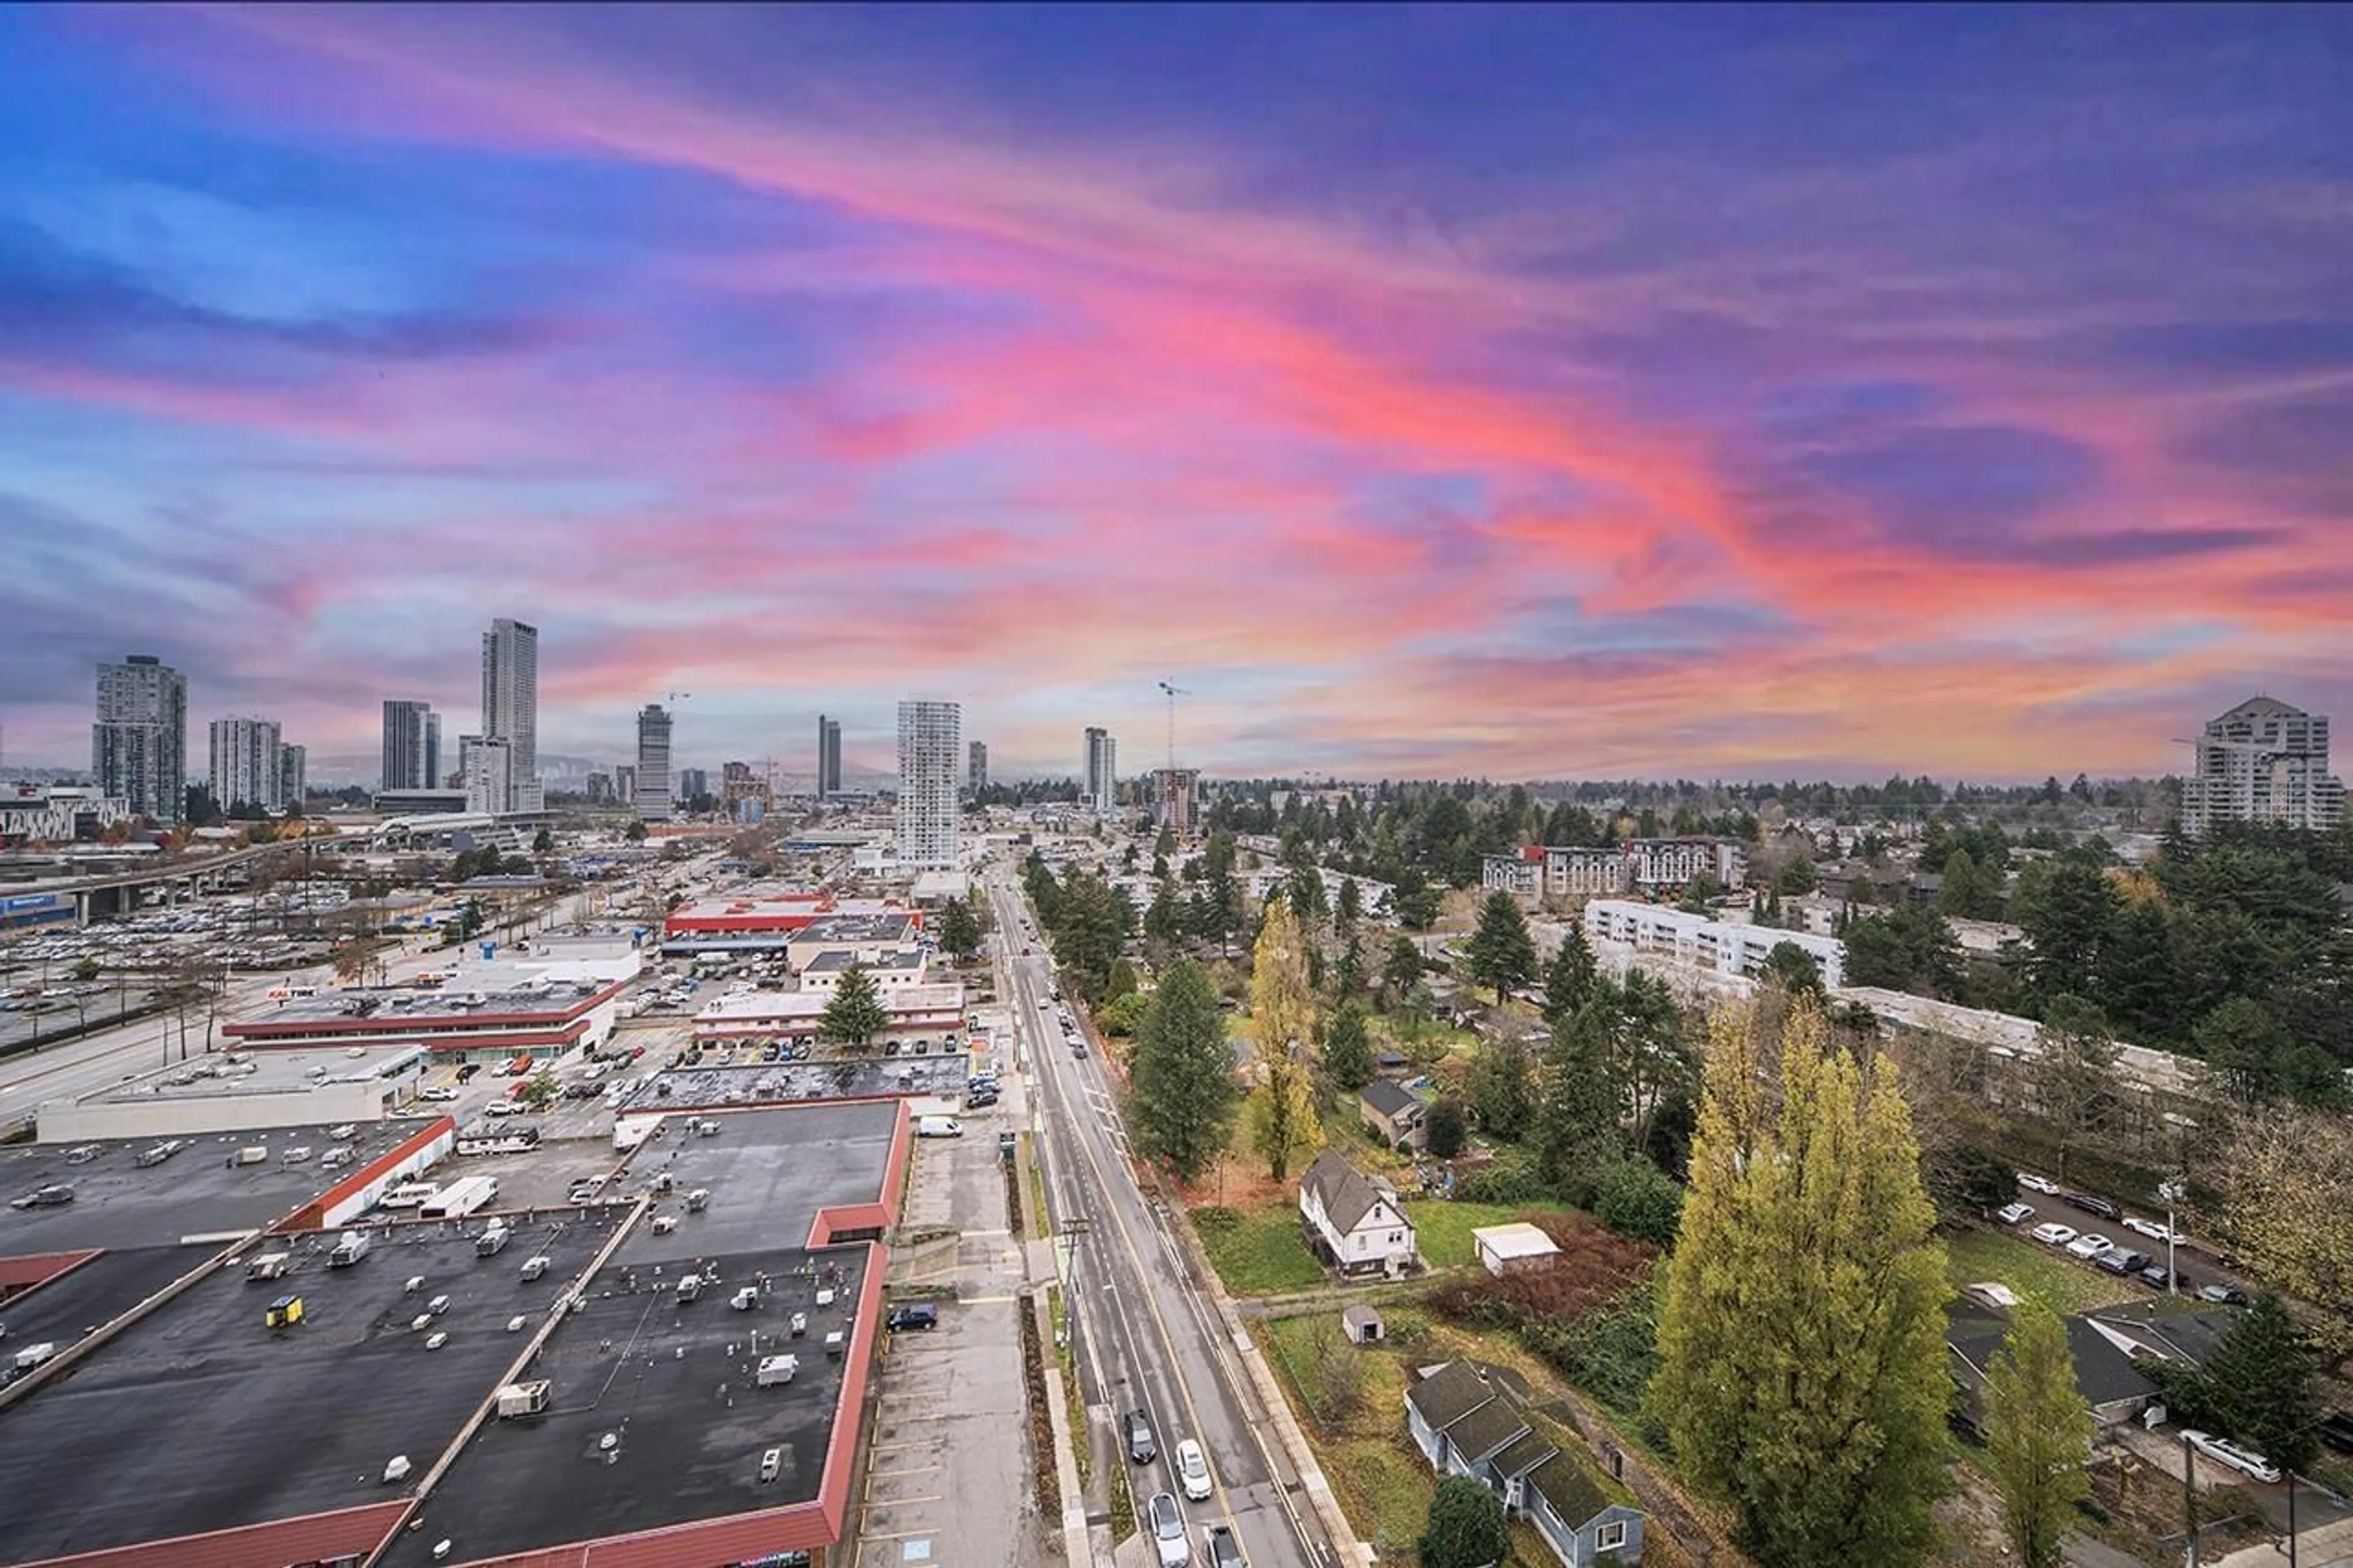
<path fill-rule="evenodd" d="M 541 1220 L 492 1260 L 454 1224 L 379 1229 L 351 1269 L 327 1267 L 332 1236 L 247 1248 L 294 1271 L 221 1269 L 0 1410 L 0 1540 L 26 1561 L 386 1502 L 386 1462 L 447 1450 L 522 1349 L 508 1321 L 551 1311 L 619 1212 Z M 534 1253 L 555 1267 L 525 1283 Z M 301 1295 L 296 1328 L 264 1326 L 278 1295 Z M 435 1295 L 449 1340 L 426 1349 L 409 1323 Z"/>

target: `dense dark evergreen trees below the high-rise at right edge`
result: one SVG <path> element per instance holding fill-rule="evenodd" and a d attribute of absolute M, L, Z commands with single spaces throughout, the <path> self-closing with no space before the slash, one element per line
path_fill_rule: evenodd
<path fill-rule="evenodd" d="M 1925 857 L 1922 857 L 1925 859 Z M 1941 845 L 1934 906 L 1845 921 L 1847 979 L 2049 1019 L 2080 1003 L 2120 1038 L 2205 1059 L 2247 1102 L 2346 1097 L 2353 831 L 2169 838 L 2129 871 L 2101 843 L 2007 873 L 2000 829 Z M 2014 951 L 1962 956 L 1948 918 L 2009 918 Z"/>

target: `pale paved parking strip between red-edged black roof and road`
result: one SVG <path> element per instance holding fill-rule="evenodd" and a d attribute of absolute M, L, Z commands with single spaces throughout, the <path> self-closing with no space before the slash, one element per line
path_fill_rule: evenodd
<path fill-rule="evenodd" d="M 915 1144 L 901 1229 L 953 1231 L 894 1260 L 896 1290 L 953 1290 L 939 1328 L 885 1347 L 875 1436 L 856 1516 L 856 1568 L 1045 1561 L 1028 1488 L 1021 1387 L 1024 1250 L 1005 1215 L 1005 1107 L 962 1137 Z"/>

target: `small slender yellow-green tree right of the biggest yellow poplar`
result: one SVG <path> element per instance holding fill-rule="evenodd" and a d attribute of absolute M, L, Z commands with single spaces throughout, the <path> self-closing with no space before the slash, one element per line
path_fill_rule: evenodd
<path fill-rule="evenodd" d="M 2002 1497 L 2002 1526 L 2024 1568 L 2059 1568 L 2075 1504 L 2092 1495 L 2092 1406 L 2075 1391 L 2066 1326 L 2038 1297 L 2012 1311 L 2009 1335 L 1986 1368 L 1986 1469 Z"/>

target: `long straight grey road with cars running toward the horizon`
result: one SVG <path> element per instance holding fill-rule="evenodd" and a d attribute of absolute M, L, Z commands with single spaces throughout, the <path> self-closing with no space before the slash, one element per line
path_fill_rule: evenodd
<path fill-rule="evenodd" d="M 1202 1528 L 1224 1521 L 1235 1526 L 1252 1568 L 1325 1568 L 1334 1561 L 1332 1547 L 1266 1434 L 1235 1347 L 1188 1283 L 1165 1220 L 1136 1187 L 1101 1057 L 1078 1059 L 1064 1045 L 1052 961 L 1038 937 L 1024 937 L 1033 928 L 1028 899 L 998 878 L 988 895 L 1009 979 L 1005 1001 L 1019 1019 L 1038 1095 L 1047 1208 L 1054 1231 L 1071 1238 L 1080 1387 L 1094 1417 L 1108 1406 L 1118 1422 L 1141 1406 L 1158 1436 L 1160 1457 L 1129 1467 L 1136 1514 L 1153 1493 L 1174 1493 L 1195 1563 L 1207 1561 Z M 1031 956 L 1021 954 L 1024 942 Z M 1209 1455 L 1217 1486 L 1207 1502 L 1184 1502 L 1176 1486 L 1174 1450 L 1188 1436 Z M 1115 1431 L 1111 1448 L 1111 1462 L 1125 1464 L 1125 1431 Z"/>

